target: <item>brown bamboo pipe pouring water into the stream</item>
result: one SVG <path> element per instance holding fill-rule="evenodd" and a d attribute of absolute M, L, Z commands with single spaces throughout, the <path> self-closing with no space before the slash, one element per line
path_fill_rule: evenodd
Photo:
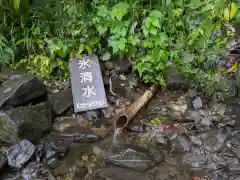
<path fill-rule="evenodd" d="M 130 124 L 132 118 L 138 113 L 138 111 L 145 106 L 148 101 L 157 92 L 158 86 L 152 85 L 144 94 L 133 102 L 123 113 L 114 121 L 114 130 L 120 129 L 120 133 Z"/>

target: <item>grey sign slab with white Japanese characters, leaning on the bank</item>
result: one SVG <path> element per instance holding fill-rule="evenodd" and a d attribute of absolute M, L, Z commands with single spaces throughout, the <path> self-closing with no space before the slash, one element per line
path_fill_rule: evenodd
<path fill-rule="evenodd" d="M 74 111 L 107 107 L 102 73 L 97 57 L 84 56 L 70 62 Z"/>

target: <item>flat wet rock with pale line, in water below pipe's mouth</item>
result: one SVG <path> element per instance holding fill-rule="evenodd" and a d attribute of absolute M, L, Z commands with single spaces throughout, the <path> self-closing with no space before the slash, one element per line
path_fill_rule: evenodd
<path fill-rule="evenodd" d="M 155 165 L 154 158 L 148 151 L 132 146 L 114 146 L 105 153 L 106 162 L 119 167 L 126 167 L 137 171 L 145 171 Z"/>

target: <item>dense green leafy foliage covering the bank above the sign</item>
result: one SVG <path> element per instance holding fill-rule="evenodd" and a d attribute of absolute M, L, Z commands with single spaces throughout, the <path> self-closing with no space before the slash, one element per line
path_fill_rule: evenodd
<path fill-rule="evenodd" d="M 0 64 L 68 77 L 68 60 L 131 58 L 145 82 L 165 85 L 169 67 L 201 81 L 240 19 L 228 0 L 3 0 Z M 200 74 L 200 76 L 199 76 Z"/>

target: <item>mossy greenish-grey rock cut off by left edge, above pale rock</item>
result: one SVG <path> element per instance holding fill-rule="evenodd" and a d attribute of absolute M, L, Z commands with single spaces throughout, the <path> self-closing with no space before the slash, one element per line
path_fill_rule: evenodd
<path fill-rule="evenodd" d="M 0 141 L 8 144 L 19 141 L 17 124 L 3 112 L 0 112 Z"/>

